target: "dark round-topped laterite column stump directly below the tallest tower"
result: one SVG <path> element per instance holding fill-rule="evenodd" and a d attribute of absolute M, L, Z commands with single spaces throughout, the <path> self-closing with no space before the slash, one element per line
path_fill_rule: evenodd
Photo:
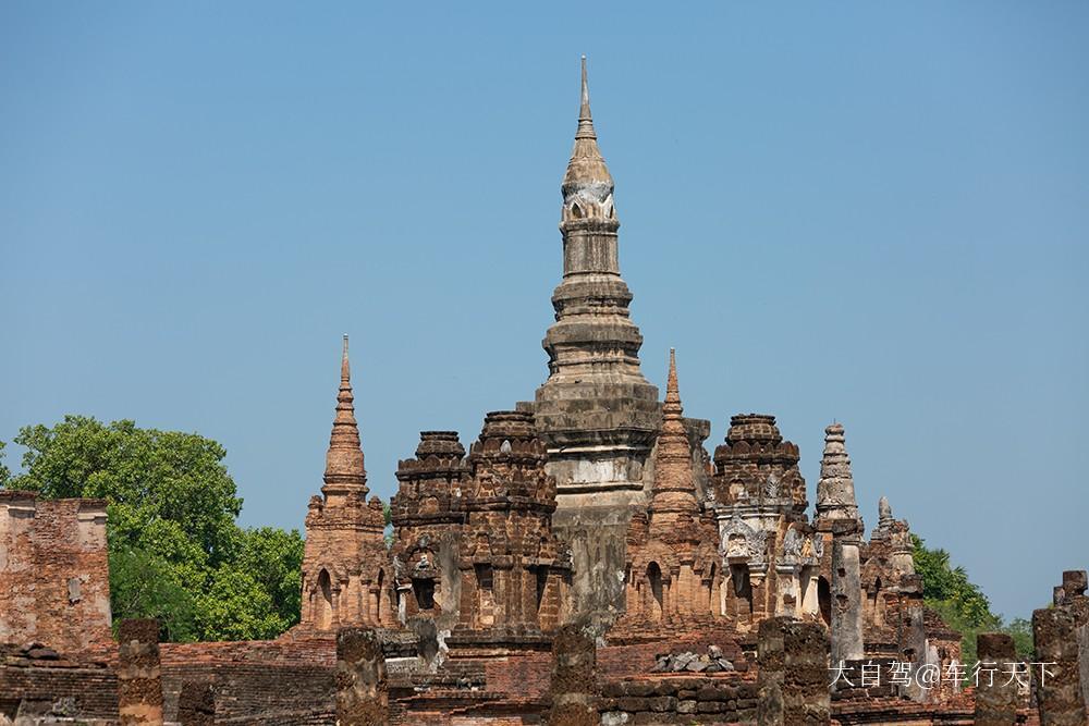
<path fill-rule="evenodd" d="M 559 628 L 552 640 L 549 726 L 597 726 L 597 643 L 580 624 Z"/>

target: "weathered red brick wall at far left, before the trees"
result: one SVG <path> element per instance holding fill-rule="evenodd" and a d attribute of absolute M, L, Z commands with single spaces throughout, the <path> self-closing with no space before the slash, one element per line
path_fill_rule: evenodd
<path fill-rule="evenodd" d="M 106 502 L 0 491 L 0 643 L 109 641 Z"/>

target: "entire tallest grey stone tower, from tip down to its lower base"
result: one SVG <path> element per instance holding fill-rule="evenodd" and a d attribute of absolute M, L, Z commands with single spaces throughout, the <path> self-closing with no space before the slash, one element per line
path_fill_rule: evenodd
<path fill-rule="evenodd" d="M 576 613 L 623 607 L 624 547 L 661 424 L 658 389 L 639 370 L 643 335 L 620 276 L 613 180 L 598 148 L 583 64 L 578 128 L 561 185 L 563 280 L 544 335 L 549 377 L 534 413 L 556 480 L 552 524 L 571 545 Z"/>

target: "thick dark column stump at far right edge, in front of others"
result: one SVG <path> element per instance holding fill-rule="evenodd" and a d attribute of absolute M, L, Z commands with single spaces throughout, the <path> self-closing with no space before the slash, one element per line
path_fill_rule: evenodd
<path fill-rule="evenodd" d="M 1075 616 L 1064 606 L 1048 607 L 1032 613 L 1032 637 L 1036 660 L 1054 663 L 1047 666 L 1052 675 L 1040 677 L 1039 666 L 1032 674 L 1037 684 L 1042 726 L 1085 726 L 1085 696 L 1081 691 Z"/>

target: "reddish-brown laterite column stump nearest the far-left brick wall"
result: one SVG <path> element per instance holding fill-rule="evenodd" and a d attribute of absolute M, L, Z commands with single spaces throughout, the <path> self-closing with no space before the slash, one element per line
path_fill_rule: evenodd
<path fill-rule="evenodd" d="M 121 726 L 162 726 L 158 620 L 122 620 L 118 641 Z"/>

